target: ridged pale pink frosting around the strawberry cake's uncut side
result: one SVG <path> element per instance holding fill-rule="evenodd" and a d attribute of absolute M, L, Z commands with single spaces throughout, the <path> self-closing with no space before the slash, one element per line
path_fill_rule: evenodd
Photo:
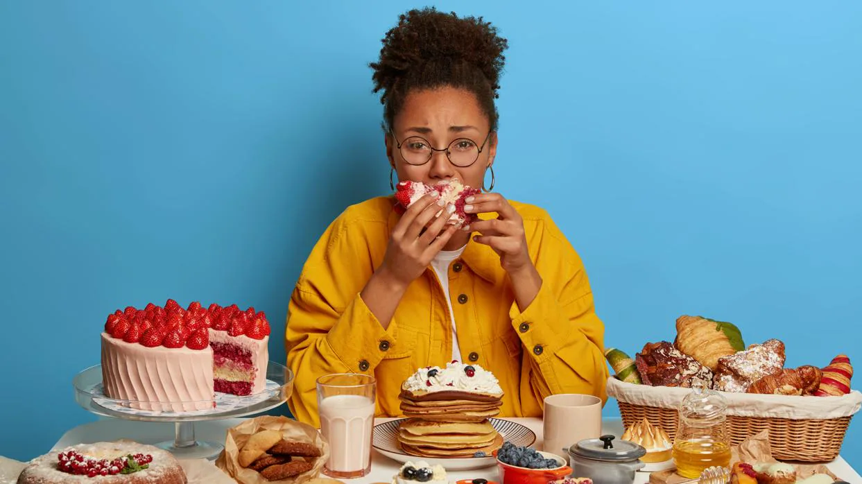
<path fill-rule="evenodd" d="M 191 412 L 213 407 L 213 351 L 147 348 L 102 333 L 105 394 L 141 410 Z M 159 403 L 153 403 L 159 402 Z"/>

